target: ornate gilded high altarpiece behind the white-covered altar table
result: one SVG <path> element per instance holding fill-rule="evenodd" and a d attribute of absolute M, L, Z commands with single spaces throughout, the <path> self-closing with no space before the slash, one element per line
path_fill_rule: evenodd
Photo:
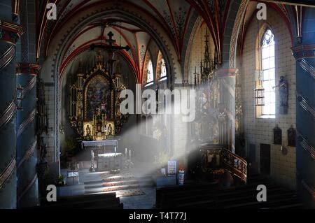
<path fill-rule="evenodd" d="M 111 75 L 107 67 L 105 56 L 98 51 L 92 64 L 80 62 L 69 87 L 69 121 L 84 140 L 112 138 L 127 121 L 127 115 L 120 112 L 119 96 L 125 89 L 120 69 Z"/>

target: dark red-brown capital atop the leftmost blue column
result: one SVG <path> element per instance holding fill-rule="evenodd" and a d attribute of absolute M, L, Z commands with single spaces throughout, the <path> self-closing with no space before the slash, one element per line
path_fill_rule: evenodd
<path fill-rule="evenodd" d="M 22 26 L 0 20 L 0 40 L 16 45 L 24 33 Z"/>

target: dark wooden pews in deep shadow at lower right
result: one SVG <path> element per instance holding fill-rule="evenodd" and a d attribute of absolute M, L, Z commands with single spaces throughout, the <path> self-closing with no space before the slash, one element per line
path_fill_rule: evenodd
<path fill-rule="evenodd" d="M 267 186 L 267 202 L 258 202 L 257 186 Z M 271 181 L 254 176 L 247 185 L 222 188 L 218 185 L 187 187 L 163 187 L 156 189 L 156 208 L 302 208 L 295 191 L 275 185 Z"/>

